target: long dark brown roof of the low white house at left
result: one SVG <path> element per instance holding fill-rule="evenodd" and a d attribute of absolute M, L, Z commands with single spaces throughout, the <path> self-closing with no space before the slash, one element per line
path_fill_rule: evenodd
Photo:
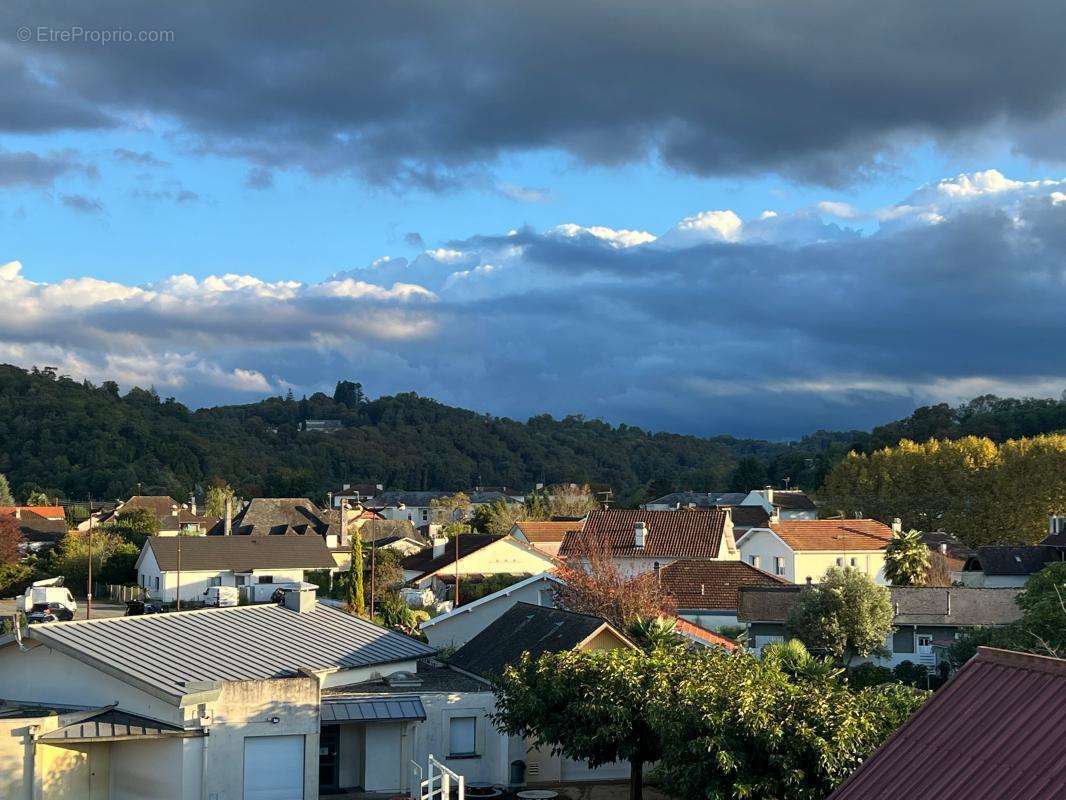
<path fill-rule="evenodd" d="M 337 565 L 321 537 L 149 537 L 163 572 L 178 569 L 251 572 L 252 570 L 325 570 Z"/>

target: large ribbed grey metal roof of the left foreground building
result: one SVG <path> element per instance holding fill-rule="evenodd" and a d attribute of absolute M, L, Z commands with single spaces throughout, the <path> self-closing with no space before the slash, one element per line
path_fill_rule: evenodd
<path fill-rule="evenodd" d="M 160 697 L 194 682 L 249 681 L 390 663 L 436 652 L 419 641 L 319 603 L 212 608 L 145 617 L 53 622 L 28 636 Z"/>

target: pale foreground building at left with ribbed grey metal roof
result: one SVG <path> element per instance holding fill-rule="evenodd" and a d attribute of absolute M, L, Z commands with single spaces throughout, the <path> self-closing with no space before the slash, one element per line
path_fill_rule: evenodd
<path fill-rule="evenodd" d="M 432 653 L 313 591 L 33 625 L 0 639 L 0 797 L 313 800 L 329 763 L 320 732 L 341 713 L 327 693 L 415 672 Z M 369 765 L 373 790 L 389 783 L 371 783 L 374 768 L 407 759 L 404 731 L 366 710 L 349 757 Z"/>

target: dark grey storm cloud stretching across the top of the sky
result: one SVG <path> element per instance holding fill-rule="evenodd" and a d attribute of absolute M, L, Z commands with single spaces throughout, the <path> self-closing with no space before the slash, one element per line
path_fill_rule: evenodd
<path fill-rule="evenodd" d="M 889 169 L 916 138 L 989 127 L 1066 157 L 1066 5 L 1043 0 L 66 0 L 4 17 L 11 30 L 174 32 L 9 46 L 4 129 L 147 113 L 177 121 L 190 147 L 263 167 L 447 189 L 501 154 L 562 148 L 591 163 L 658 154 L 696 174 L 841 185 Z"/>

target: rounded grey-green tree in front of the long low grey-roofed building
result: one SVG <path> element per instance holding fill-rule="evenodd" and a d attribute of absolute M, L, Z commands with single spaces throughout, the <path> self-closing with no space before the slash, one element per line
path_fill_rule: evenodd
<path fill-rule="evenodd" d="M 802 593 L 788 627 L 811 652 L 847 666 L 884 652 L 892 633 L 891 595 L 857 570 L 831 567 Z"/>

